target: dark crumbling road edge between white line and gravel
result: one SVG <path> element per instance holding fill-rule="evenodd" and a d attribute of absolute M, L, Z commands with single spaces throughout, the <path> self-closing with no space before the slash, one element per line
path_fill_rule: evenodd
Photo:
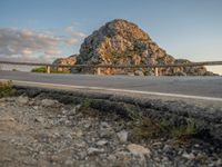
<path fill-rule="evenodd" d="M 222 108 L 220 102 L 206 105 L 206 101 L 162 98 L 119 94 L 102 90 L 67 89 L 58 87 L 37 87 L 14 84 L 18 96 L 30 98 L 43 97 L 56 99 L 62 104 L 87 104 L 88 107 L 103 112 L 115 112 L 127 120 L 148 117 L 152 120 L 167 121 L 172 127 L 194 125 L 199 138 L 205 141 L 222 144 Z M 192 100 L 193 101 L 193 100 Z"/>

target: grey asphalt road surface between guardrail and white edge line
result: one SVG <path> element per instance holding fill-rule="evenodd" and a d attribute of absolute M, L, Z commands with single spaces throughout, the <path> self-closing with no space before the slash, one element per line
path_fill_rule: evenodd
<path fill-rule="evenodd" d="M 0 79 L 222 98 L 222 77 L 132 77 L 0 71 Z"/>

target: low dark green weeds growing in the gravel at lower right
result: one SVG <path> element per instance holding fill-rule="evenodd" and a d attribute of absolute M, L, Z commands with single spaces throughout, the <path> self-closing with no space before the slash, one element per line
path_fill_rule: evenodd
<path fill-rule="evenodd" d="M 149 138 L 168 137 L 180 143 L 189 141 L 199 134 L 194 121 L 188 121 L 186 125 L 172 126 L 165 120 L 153 120 L 151 118 L 141 118 L 133 124 L 132 135 L 137 140 Z"/>

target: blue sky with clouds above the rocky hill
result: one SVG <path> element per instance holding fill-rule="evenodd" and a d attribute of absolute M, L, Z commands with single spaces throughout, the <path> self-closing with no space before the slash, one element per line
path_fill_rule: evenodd
<path fill-rule="evenodd" d="M 222 60 L 221 9 L 222 0 L 0 0 L 0 59 L 50 62 L 79 53 L 87 36 L 119 18 L 175 58 Z"/>

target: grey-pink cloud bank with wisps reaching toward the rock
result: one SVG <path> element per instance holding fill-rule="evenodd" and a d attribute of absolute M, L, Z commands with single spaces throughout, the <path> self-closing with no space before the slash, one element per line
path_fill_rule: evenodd
<path fill-rule="evenodd" d="M 41 55 L 43 59 L 50 60 L 61 56 L 62 47 L 78 45 L 83 37 L 82 32 L 74 32 L 73 29 L 70 30 L 69 36 L 59 37 L 46 31 L 0 28 L 0 58 L 34 60 L 38 58 L 37 55 L 39 57 Z"/>

